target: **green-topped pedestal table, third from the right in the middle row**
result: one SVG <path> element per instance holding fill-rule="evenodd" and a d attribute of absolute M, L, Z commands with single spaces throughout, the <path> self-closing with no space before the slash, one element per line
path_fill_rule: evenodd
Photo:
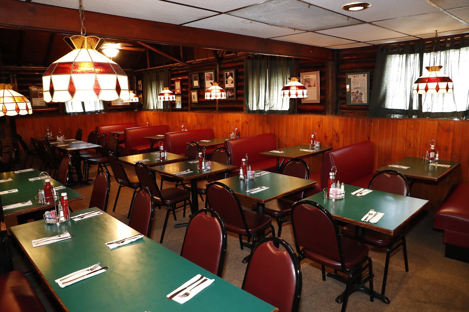
<path fill-rule="evenodd" d="M 199 201 L 198 201 L 198 194 L 197 194 L 197 179 L 206 177 L 211 174 L 216 174 L 220 172 L 226 172 L 236 169 L 236 166 L 225 164 L 225 163 L 217 163 L 211 162 L 211 170 L 210 171 L 202 171 L 198 170 L 198 161 L 190 160 L 190 161 L 182 161 L 178 163 L 168 163 L 159 166 L 152 166 L 150 167 L 151 171 L 155 171 L 158 173 L 164 173 L 172 178 L 176 178 L 181 181 L 190 181 L 190 189 L 191 189 L 191 198 L 192 198 L 192 206 L 191 212 L 194 214 L 199 209 Z M 183 174 L 176 174 L 182 171 L 187 171 Z"/>

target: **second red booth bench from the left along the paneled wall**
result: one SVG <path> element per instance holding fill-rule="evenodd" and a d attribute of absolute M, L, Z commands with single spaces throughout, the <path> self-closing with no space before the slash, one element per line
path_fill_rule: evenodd
<path fill-rule="evenodd" d="M 151 149 L 150 140 L 143 137 L 166 134 L 168 131 L 168 125 L 127 128 L 124 130 L 124 143 L 119 144 L 117 151 L 121 156 L 148 153 Z M 166 138 L 161 140 L 164 145 L 165 140 Z M 154 148 L 157 149 L 158 144 L 155 144 Z"/>

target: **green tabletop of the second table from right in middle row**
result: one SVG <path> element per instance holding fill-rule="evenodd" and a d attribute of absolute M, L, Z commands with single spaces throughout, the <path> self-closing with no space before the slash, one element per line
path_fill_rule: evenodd
<path fill-rule="evenodd" d="M 257 172 L 259 172 L 259 170 Z M 272 201 L 276 198 L 295 193 L 316 183 L 316 181 L 313 180 L 290 177 L 274 172 L 247 182 L 241 180 L 238 176 L 222 179 L 218 182 L 231 188 L 238 197 L 254 200 L 260 203 L 265 203 L 267 201 Z M 261 185 L 268 186 L 269 189 L 258 193 L 247 192 L 247 190 Z"/>

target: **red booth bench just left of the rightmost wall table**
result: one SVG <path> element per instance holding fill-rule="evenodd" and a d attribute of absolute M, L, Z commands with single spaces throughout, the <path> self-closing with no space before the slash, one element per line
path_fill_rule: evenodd
<path fill-rule="evenodd" d="M 371 141 L 362 141 L 347 145 L 339 149 L 325 152 L 321 171 L 310 174 L 310 180 L 315 180 L 317 190 L 327 187 L 329 172 L 337 168 L 336 180 L 340 183 L 367 188 L 376 173 L 373 171 L 375 155 Z"/>

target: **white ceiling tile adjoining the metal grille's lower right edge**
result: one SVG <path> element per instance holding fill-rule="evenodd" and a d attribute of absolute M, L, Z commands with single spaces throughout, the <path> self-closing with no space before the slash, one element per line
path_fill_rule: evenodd
<path fill-rule="evenodd" d="M 351 25 L 333 29 L 318 30 L 325 35 L 347 38 L 356 41 L 371 41 L 378 39 L 402 37 L 400 32 L 388 30 L 371 24 Z"/>

